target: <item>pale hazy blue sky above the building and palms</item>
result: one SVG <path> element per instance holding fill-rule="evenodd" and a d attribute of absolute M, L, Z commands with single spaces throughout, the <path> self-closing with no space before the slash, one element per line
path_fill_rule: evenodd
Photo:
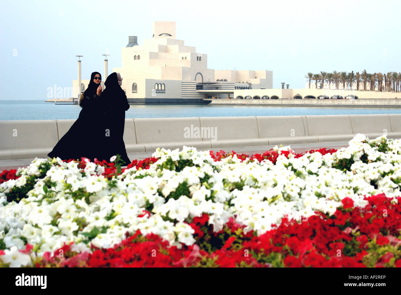
<path fill-rule="evenodd" d="M 335 4 L 335 5 L 334 5 Z M 0 99 L 47 99 L 121 67 L 128 36 L 152 37 L 153 21 L 175 21 L 176 38 L 208 55 L 209 69 L 271 70 L 304 88 L 319 71 L 401 71 L 400 1 L 7 1 L 0 11 Z"/>

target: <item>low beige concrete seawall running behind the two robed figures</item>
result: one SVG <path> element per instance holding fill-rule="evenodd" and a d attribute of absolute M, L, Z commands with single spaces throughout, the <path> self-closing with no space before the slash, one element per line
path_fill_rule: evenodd
<path fill-rule="evenodd" d="M 0 121 L 0 159 L 47 157 L 75 120 Z M 401 138 L 401 114 L 126 119 L 128 153 L 350 140 L 364 133 Z"/>

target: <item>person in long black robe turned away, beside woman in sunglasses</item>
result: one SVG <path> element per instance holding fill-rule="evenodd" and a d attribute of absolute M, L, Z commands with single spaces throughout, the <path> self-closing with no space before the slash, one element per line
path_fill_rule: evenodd
<path fill-rule="evenodd" d="M 103 158 L 120 155 L 122 166 L 131 163 L 123 139 L 125 111 L 130 108 L 127 96 L 118 84 L 117 73 L 111 73 L 104 82 L 105 90 L 100 95 L 103 110 L 106 113 L 103 121 L 104 148 Z M 107 159 L 108 158 L 108 159 Z"/>

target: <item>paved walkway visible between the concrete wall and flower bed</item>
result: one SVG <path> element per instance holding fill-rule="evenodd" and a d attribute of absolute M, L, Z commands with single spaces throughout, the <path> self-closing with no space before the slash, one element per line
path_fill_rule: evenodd
<path fill-rule="evenodd" d="M 273 149 L 274 145 L 258 145 L 258 146 L 237 146 L 230 148 L 212 148 L 212 149 L 198 149 L 198 151 L 212 150 L 218 152 L 220 150 L 230 152 L 235 151 L 236 153 L 244 154 L 263 154 L 269 149 Z M 284 145 L 285 146 L 285 145 Z M 335 142 L 311 142 L 311 143 L 297 143 L 290 144 L 291 149 L 296 153 L 302 153 L 311 149 L 319 148 L 330 148 L 330 149 L 341 149 L 342 147 L 348 146 L 348 141 L 335 141 Z M 139 152 L 139 153 L 128 153 L 128 157 L 131 161 L 137 159 L 142 160 L 148 157 L 152 157 L 154 152 Z M 33 158 L 30 159 L 16 159 L 16 160 L 0 160 L 0 172 L 3 170 L 18 169 L 19 167 L 28 167 L 32 162 Z"/>

